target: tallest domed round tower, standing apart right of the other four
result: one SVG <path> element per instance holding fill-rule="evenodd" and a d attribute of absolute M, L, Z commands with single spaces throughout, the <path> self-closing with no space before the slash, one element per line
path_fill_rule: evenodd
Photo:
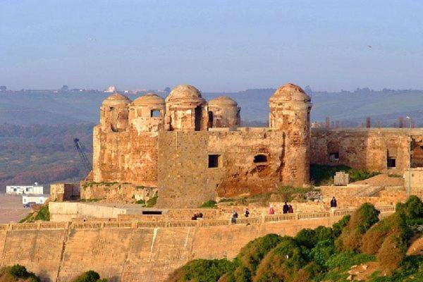
<path fill-rule="evenodd" d="M 311 98 L 297 85 L 279 87 L 269 99 L 269 126 L 286 134 L 283 182 L 309 183 L 309 124 Z"/>

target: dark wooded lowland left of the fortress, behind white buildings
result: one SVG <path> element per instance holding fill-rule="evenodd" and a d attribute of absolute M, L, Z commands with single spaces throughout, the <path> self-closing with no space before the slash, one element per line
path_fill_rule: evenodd
<path fill-rule="evenodd" d="M 91 158 L 92 126 L 0 125 L 0 191 L 7 184 L 38 182 L 48 187 L 55 181 L 85 177 L 73 138 L 82 141 Z"/>

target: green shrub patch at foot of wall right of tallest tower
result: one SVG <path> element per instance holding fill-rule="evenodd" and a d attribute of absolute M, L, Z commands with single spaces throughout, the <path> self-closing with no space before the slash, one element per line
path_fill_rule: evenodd
<path fill-rule="evenodd" d="M 360 169 L 350 168 L 350 166 L 344 166 L 343 164 L 336 166 L 311 164 L 310 180 L 317 186 L 331 184 L 333 183 L 333 176 L 335 176 L 336 171 L 345 171 L 345 173 L 349 173 L 351 182 L 364 180 L 380 174 L 377 171 L 363 171 Z"/>

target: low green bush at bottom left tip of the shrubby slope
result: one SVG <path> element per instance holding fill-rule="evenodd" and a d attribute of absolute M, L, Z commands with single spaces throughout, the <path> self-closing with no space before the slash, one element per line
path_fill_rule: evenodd
<path fill-rule="evenodd" d="M 233 264 L 227 259 L 195 259 L 174 271 L 168 282 L 216 282 L 231 271 Z"/>

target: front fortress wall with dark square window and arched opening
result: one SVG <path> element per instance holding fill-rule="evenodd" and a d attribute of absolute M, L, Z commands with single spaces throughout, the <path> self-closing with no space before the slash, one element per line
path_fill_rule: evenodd
<path fill-rule="evenodd" d="M 216 196 L 254 195 L 278 185 L 307 183 L 308 174 L 283 169 L 295 149 L 286 152 L 285 140 L 283 131 L 269 128 L 159 133 L 158 206 L 198 207 Z M 218 156 L 218 167 L 209 168 L 209 155 Z M 259 155 L 264 159 L 257 159 Z"/>

